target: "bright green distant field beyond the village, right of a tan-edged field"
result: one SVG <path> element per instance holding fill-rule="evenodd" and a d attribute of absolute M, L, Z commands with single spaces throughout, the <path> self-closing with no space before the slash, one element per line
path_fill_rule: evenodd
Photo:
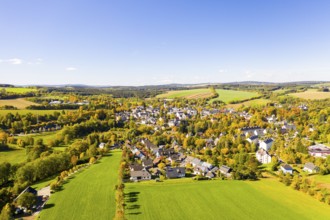
<path fill-rule="evenodd" d="M 256 92 L 247 91 L 217 89 L 216 92 L 219 94 L 219 97 L 211 99 L 211 102 L 220 100 L 224 103 L 229 103 L 231 101 L 241 101 L 260 96 Z"/>

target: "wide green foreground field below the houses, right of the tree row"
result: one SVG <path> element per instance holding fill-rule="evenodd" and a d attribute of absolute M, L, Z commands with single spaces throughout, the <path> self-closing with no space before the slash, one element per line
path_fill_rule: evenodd
<path fill-rule="evenodd" d="M 275 179 L 129 183 L 127 219 L 330 219 L 330 206 Z"/>

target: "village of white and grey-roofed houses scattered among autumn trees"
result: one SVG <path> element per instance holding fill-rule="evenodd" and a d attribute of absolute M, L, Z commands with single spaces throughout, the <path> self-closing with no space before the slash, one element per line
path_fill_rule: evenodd
<path fill-rule="evenodd" d="M 164 104 L 166 108 L 166 104 Z M 282 106 L 279 105 L 278 108 Z M 305 104 L 298 106 L 299 109 L 307 111 L 308 107 Z M 234 109 L 202 109 L 200 111 L 201 119 L 208 117 L 211 122 L 217 120 L 212 117 L 218 113 L 230 114 L 232 117 L 239 117 L 242 120 L 250 120 L 253 115 L 243 111 L 237 112 Z M 196 117 L 198 111 L 192 107 L 176 108 L 169 107 L 167 109 L 167 118 L 160 117 L 160 108 L 153 108 L 139 106 L 133 109 L 131 112 L 121 112 L 117 114 L 117 120 L 129 121 L 135 120 L 138 124 L 152 126 L 154 131 L 168 130 L 174 126 L 179 126 L 180 123 L 186 123 L 186 119 Z M 166 122 L 167 121 L 167 122 Z M 161 122 L 161 123 L 159 123 Z M 278 172 L 283 174 L 293 174 L 293 164 L 287 164 L 280 158 L 279 155 L 271 154 L 270 150 L 274 143 L 274 140 L 278 137 L 285 137 L 286 140 L 293 139 L 298 135 L 298 131 L 294 122 L 288 123 L 287 121 L 278 121 L 275 115 L 271 115 L 265 118 L 265 122 L 269 124 L 269 127 L 261 128 L 259 126 L 242 127 L 238 129 L 238 134 L 246 143 L 253 145 L 256 149 L 255 158 L 260 164 L 270 164 L 272 158 L 276 158 L 278 163 Z M 275 128 L 275 129 L 274 129 Z M 313 131 L 313 128 L 310 128 Z M 206 138 L 203 149 L 215 148 L 222 135 L 226 131 L 223 131 L 219 137 Z M 292 136 L 289 136 L 292 135 Z M 188 137 L 189 133 L 186 134 Z M 203 137 L 203 133 L 196 134 Z M 312 141 L 311 141 L 312 142 Z M 129 165 L 130 180 L 142 181 L 142 180 L 159 180 L 183 177 L 197 177 L 197 178 L 231 178 L 231 172 L 233 168 L 227 165 L 216 166 L 207 161 L 203 161 L 200 155 L 193 154 L 192 152 L 185 151 L 175 139 L 173 139 L 170 145 L 155 146 L 147 138 L 141 138 L 138 145 L 132 145 L 130 141 L 126 142 L 126 147 L 133 155 L 134 161 Z M 326 158 L 330 155 L 330 148 L 323 144 L 314 144 L 308 147 L 308 154 L 312 157 Z M 307 173 L 316 173 L 320 171 L 320 168 L 312 162 L 306 162 L 302 166 L 302 170 Z"/>

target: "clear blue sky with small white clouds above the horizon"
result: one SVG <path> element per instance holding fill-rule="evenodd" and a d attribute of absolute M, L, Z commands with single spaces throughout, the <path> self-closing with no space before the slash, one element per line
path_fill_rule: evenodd
<path fill-rule="evenodd" d="M 328 0 L 0 0 L 0 83 L 330 81 Z"/>

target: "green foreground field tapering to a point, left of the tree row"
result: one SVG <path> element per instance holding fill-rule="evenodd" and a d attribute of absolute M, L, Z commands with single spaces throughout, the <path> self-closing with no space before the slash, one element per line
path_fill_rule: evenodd
<path fill-rule="evenodd" d="M 112 151 L 111 156 L 73 176 L 50 197 L 40 219 L 113 219 L 120 158 L 121 151 Z"/>

